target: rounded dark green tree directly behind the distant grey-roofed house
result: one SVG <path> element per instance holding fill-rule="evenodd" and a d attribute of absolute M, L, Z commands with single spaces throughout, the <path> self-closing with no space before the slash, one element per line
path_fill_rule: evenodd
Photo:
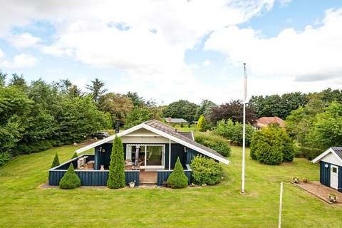
<path fill-rule="evenodd" d="M 187 100 L 178 100 L 170 103 L 164 110 L 163 115 L 171 118 L 183 118 L 188 122 L 195 120 L 198 106 Z"/>

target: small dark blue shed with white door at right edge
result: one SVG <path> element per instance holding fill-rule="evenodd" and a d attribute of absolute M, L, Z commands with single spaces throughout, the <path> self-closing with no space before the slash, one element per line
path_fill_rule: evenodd
<path fill-rule="evenodd" d="M 342 147 L 330 147 L 312 162 L 319 162 L 321 184 L 342 192 Z"/>

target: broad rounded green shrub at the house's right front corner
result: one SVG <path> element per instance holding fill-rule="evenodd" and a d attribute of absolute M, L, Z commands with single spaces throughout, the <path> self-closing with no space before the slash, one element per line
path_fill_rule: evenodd
<path fill-rule="evenodd" d="M 196 156 L 192 160 L 190 167 L 192 169 L 192 178 L 199 185 L 215 185 L 222 180 L 222 165 L 210 158 Z"/>

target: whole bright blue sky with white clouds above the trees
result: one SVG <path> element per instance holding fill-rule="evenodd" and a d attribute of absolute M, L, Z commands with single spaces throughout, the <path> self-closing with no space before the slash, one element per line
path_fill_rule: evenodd
<path fill-rule="evenodd" d="M 27 81 L 223 103 L 242 97 L 245 62 L 249 96 L 342 85 L 342 1 L 16 0 L 0 15 L 0 69 Z"/>

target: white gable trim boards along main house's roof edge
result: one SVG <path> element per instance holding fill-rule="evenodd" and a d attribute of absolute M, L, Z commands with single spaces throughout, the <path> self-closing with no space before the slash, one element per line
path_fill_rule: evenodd
<path fill-rule="evenodd" d="M 118 137 L 122 137 L 122 136 L 127 135 L 128 133 L 132 133 L 133 131 L 138 130 L 140 128 L 145 128 L 146 130 L 150 130 L 152 133 L 156 133 L 157 135 L 161 135 L 161 136 L 163 136 L 165 138 L 168 138 L 169 140 L 172 140 L 174 142 L 177 142 L 177 143 L 180 143 L 182 145 L 185 145 L 186 147 L 189 147 L 192 150 L 196 150 L 197 152 L 200 152 L 203 155 L 207 155 L 208 157 L 214 158 L 214 160 L 218 160 L 219 162 L 222 162 L 222 163 L 227 164 L 227 165 L 229 164 L 229 160 L 227 160 L 227 159 L 225 159 L 223 157 L 219 157 L 218 155 L 215 155 L 212 152 L 204 150 L 201 147 L 197 147 L 196 145 L 192 145 L 191 143 L 186 142 L 185 140 L 181 140 L 180 138 L 177 138 L 175 136 L 169 135 L 169 134 L 167 134 L 167 133 L 165 133 L 165 132 L 163 132 L 161 130 L 157 130 L 156 128 L 152 128 L 150 125 L 146 125 L 145 123 L 140 123 L 140 125 L 136 125 L 133 128 L 129 128 L 128 130 L 124 130 L 123 132 L 118 133 L 117 135 L 118 135 Z M 92 143 L 90 145 L 87 145 L 85 147 L 82 147 L 82 148 L 76 150 L 76 153 L 84 152 L 84 151 L 89 150 L 89 149 L 91 149 L 93 147 L 96 147 L 98 145 L 102 145 L 105 142 L 110 142 L 110 141 L 112 141 L 114 139 L 115 139 L 115 135 L 111 135 L 108 138 L 104 138 L 103 140 L 99 140 L 98 142 L 94 142 L 94 143 Z"/>

